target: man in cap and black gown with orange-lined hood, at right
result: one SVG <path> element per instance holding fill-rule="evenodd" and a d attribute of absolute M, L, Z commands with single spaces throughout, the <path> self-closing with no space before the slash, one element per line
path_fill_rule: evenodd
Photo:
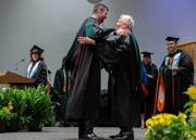
<path fill-rule="evenodd" d="M 156 113 L 185 112 L 184 105 L 189 101 L 187 88 L 194 84 L 194 66 L 189 54 L 176 49 L 179 38 L 168 37 L 169 54 L 164 58 L 158 76 L 156 91 Z"/>

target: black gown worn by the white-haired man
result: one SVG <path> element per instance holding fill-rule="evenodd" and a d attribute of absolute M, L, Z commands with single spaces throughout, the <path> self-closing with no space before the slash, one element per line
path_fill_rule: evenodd
<path fill-rule="evenodd" d="M 110 73 L 108 84 L 110 117 L 120 127 L 132 129 L 138 116 L 138 100 L 134 94 L 134 85 L 139 77 L 133 40 L 130 36 L 115 36 L 106 41 L 96 40 L 96 43 L 103 66 Z"/>

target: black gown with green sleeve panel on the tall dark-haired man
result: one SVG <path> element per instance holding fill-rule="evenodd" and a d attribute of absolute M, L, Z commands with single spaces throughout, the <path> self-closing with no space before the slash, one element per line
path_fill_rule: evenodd
<path fill-rule="evenodd" d="M 78 37 L 91 37 L 103 31 L 98 21 L 89 17 L 79 28 L 66 55 L 66 68 L 72 73 L 72 86 L 69 93 L 65 117 L 97 118 L 100 103 L 100 61 L 94 53 L 94 46 L 81 46 Z"/>

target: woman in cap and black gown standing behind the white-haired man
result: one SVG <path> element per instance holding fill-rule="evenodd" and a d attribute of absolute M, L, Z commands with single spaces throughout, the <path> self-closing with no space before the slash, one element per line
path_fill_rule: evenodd
<path fill-rule="evenodd" d="M 143 55 L 143 64 L 145 66 L 145 71 L 148 77 L 148 82 L 146 86 L 146 94 L 144 100 L 139 103 L 139 113 L 140 113 L 140 128 L 145 127 L 145 120 L 150 118 L 154 115 L 155 107 L 155 96 L 156 96 L 156 85 L 157 85 L 157 76 L 158 68 L 151 62 L 151 52 L 142 52 Z"/>

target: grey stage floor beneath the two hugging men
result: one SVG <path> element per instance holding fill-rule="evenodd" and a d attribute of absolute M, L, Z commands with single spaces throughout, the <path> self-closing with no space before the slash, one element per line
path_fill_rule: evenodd
<path fill-rule="evenodd" d="M 41 132 L 19 130 L 17 132 L 0 133 L 0 140 L 77 140 L 77 127 L 42 127 Z M 97 136 L 109 139 L 110 135 L 119 132 L 118 127 L 95 127 Z M 134 128 L 135 140 L 144 140 L 147 129 Z M 111 139 L 110 139 L 111 140 Z"/>

